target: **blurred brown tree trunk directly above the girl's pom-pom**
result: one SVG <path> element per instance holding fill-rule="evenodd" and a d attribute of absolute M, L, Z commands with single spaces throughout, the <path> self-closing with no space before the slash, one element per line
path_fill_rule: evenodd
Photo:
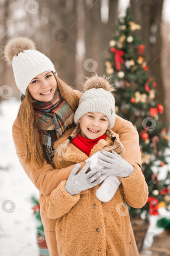
<path fill-rule="evenodd" d="M 109 18 L 107 23 L 101 22 L 100 1 L 92 1 L 91 5 L 85 3 L 85 60 L 93 59 L 97 62 L 97 70 L 95 63 L 89 63 L 88 68 L 85 67 L 85 75 L 90 76 L 89 72 L 93 70 L 102 75 L 104 72 L 105 60 L 109 57 L 108 48 L 111 35 L 115 31 L 117 20 L 118 0 L 109 1 Z M 90 66 L 91 65 L 91 66 Z M 86 66 L 86 65 L 85 65 Z M 89 69 L 90 71 L 87 71 Z"/>

